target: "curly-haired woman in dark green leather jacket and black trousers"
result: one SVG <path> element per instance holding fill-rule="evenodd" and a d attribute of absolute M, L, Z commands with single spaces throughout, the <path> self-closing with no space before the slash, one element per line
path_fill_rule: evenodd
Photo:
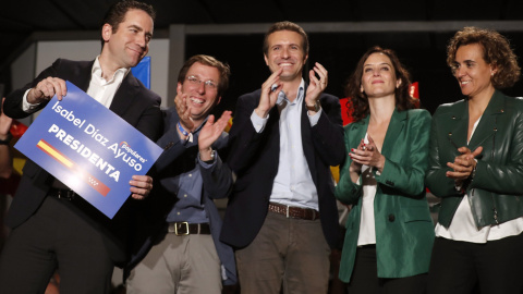
<path fill-rule="evenodd" d="M 523 100 L 498 89 L 520 76 L 499 33 L 465 27 L 447 63 L 464 100 L 433 118 L 426 184 L 441 197 L 428 293 L 523 293 Z"/>

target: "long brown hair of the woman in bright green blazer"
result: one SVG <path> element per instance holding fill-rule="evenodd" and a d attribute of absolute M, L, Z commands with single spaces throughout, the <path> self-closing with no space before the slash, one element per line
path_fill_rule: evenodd
<path fill-rule="evenodd" d="M 349 114 L 352 115 L 355 122 L 363 120 L 370 113 L 368 107 L 368 97 L 360 89 L 362 87 L 363 66 L 365 61 L 373 53 L 386 54 L 392 62 L 394 69 L 396 78 L 401 79 L 400 86 L 396 89 L 396 107 L 399 111 L 418 108 L 417 100 L 409 95 L 409 87 L 411 85 L 410 74 L 401 64 L 396 52 L 391 49 L 384 49 L 379 46 L 369 48 L 357 62 L 356 69 L 349 77 L 345 85 L 345 95 L 350 97 L 346 106 Z"/>

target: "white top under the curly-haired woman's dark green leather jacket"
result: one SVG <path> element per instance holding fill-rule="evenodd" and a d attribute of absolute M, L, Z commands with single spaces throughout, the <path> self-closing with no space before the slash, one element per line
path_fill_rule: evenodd
<path fill-rule="evenodd" d="M 481 119 L 482 118 L 474 123 L 471 137 L 474 135 L 474 131 L 476 131 L 476 126 Z M 453 241 L 487 243 L 487 241 L 495 241 L 508 236 L 519 235 L 521 232 L 523 232 L 523 217 L 500 224 L 487 225 L 478 229 L 474 222 L 469 195 L 465 194 L 460 203 L 460 206 L 458 206 L 458 209 L 455 210 L 455 215 L 452 218 L 450 226 L 447 229 L 438 222 L 436 224 L 435 232 L 436 236 Z"/>

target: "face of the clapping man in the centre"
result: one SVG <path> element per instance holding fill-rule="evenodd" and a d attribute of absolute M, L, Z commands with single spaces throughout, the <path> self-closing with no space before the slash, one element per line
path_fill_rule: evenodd
<path fill-rule="evenodd" d="M 269 35 L 267 42 L 265 63 L 270 72 L 283 69 L 280 75 L 281 81 L 301 79 L 303 64 L 308 58 L 304 52 L 302 36 L 292 30 L 278 30 Z"/>

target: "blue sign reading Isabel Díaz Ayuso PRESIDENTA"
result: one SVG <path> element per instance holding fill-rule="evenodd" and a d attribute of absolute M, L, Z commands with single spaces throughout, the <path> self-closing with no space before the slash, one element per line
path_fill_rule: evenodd
<path fill-rule="evenodd" d="M 66 82 L 14 146 L 85 200 L 113 218 L 131 195 L 129 181 L 153 167 L 162 149 Z"/>

